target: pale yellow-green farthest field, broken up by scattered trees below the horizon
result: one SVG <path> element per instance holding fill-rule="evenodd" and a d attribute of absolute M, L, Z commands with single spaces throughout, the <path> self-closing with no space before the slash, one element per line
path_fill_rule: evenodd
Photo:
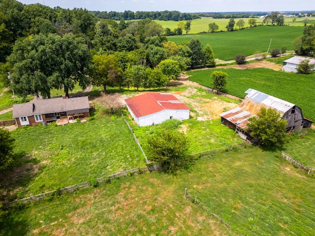
<path fill-rule="evenodd" d="M 240 19 L 243 19 L 245 22 L 245 28 L 249 28 L 250 25 L 248 24 L 248 20 L 251 18 L 237 18 L 234 19 L 235 23 L 239 21 Z M 260 18 L 255 18 L 256 19 L 256 24 L 257 26 L 262 25 L 263 19 Z M 306 18 L 296 18 L 296 21 L 293 23 L 292 22 L 292 17 L 285 17 L 284 18 L 284 24 L 286 26 L 294 26 L 294 27 L 299 27 L 299 26 L 304 26 L 304 19 Z M 313 24 L 315 22 L 315 17 L 308 17 L 309 20 L 308 24 Z M 226 31 L 225 26 L 228 24 L 230 19 L 213 19 L 212 17 L 201 17 L 201 19 L 196 19 L 191 21 L 191 29 L 189 31 L 189 34 L 196 34 L 196 33 L 201 33 L 201 32 L 208 32 L 209 29 L 209 23 L 216 23 L 219 26 L 218 31 Z M 158 24 L 160 24 L 164 29 L 169 28 L 171 30 L 174 30 L 177 28 L 178 21 L 158 21 L 155 20 Z M 186 21 L 183 21 L 186 23 Z M 119 22 L 118 22 L 119 23 Z M 269 23 L 270 24 L 270 23 Z M 238 27 L 235 25 L 234 29 L 238 29 Z M 183 34 L 186 32 L 183 31 Z"/>

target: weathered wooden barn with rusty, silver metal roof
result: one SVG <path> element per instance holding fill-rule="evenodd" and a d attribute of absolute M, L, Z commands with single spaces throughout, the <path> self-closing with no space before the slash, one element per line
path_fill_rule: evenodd
<path fill-rule="evenodd" d="M 287 131 L 299 131 L 312 126 L 313 121 L 304 118 L 301 108 L 292 103 L 255 89 L 248 89 L 245 93 L 247 96 L 239 107 L 220 114 L 221 123 L 234 129 L 244 139 L 251 138 L 244 131 L 247 129 L 248 118 L 257 115 L 262 107 L 276 109 L 287 120 Z"/>

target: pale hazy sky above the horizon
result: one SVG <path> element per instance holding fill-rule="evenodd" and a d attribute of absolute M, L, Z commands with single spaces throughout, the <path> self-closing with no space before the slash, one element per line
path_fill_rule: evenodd
<path fill-rule="evenodd" d="M 236 12 L 315 10 L 314 0 L 18 0 L 23 4 L 40 3 L 49 7 L 86 8 L 90 11 L 164 11 Z"/>

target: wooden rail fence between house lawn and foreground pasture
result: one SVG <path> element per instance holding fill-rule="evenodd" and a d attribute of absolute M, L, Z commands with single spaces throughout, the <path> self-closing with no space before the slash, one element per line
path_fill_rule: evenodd
<path fill-rule="evenodd" d="M 144 167 L 144 168 L 140 168 L 140 169 L 139 168 L 134 168 L 134 169 L 131 169 L 131 170 L 127 170 L 127 171 L 123 171 L 123 172 L 120 172 L 120 173 L 112 174 L 112 175 L 109 175 L 107 177 L 96 178 L 95 180 L 92 180 L 92 181 L 86 181 L 86 182 L 74 184 L 74 185 L 71 185 L 71 186 L 67 186 L 67 187 L 64 187 L 64 188 L 61 188 L 61 189 L 58 189 L 58 190 L 54 190 L 54 191 L 50 191 L 50 192 L 46 192 L 46 193 L 41 193 L 41 194 L 34 195 L 34 196 L 31 196 L 31 197 L 28 197 L 28 198 L 19 199 L 19 200 L 14 201 L 12 204 L 17 203 L 17 202 L 22 202 L 22 203 L 34 202 L 34 201 L 38 201 L 38 200 L 41 200 L 41 199 L 49 197 L 49 196 L 53 196 L 55 194 L 62 195 L 64 193 L 74 192 L 76 190 L 79 190 L 80 188 L 85 188 L 85 187 L 88 187 L 88 186 L 92 186 L 92 185 L 95 184 L 95 182 L 96 183 L 103 183 L 103 182 L 107 182 L 107 181 L 109 181 L 110 179 L 113 179 L 113 178 L 126 177 L 126 176 L 129 176 L 129 175 L 134 175 L 134 174 L 138 174 L 138 173 L 154 171 L 154 170 L 157 170 L 157 169 L 158 169 L 157 166 L 151 166 L 149 168 L 148 167 Z"/>

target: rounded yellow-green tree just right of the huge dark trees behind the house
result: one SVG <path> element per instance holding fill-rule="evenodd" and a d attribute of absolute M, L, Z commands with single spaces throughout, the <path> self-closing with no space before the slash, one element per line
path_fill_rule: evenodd
<path fill-rule="evenodd" d="M 90 72 L 92 84 L 103 86 L 106 93 L 107 86 L 117 86 L 121 82 L 123 70 L 118 67 L 114 55 L 94 55 L 92 58 L 93 67 Z"/>

